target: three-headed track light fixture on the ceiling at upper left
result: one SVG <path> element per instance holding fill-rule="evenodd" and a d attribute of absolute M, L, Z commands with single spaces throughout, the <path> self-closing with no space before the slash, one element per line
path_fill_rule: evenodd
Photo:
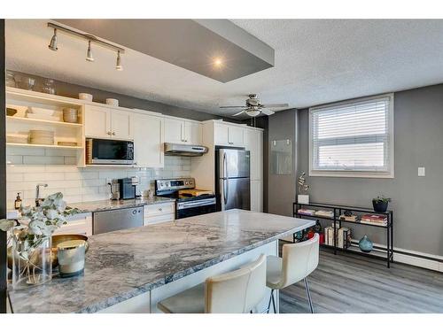
<path fill-rule="evenodd" d="M 101 39 L 98 39 L 94 35 L 82 34 L 81 32 L 74 31 L 74 30 L 70 29 L 69 27 L 59 26 L 58 24 L 54 24 L 51 22 L 48 22 L 48 27 L 51 27 L 54 29 L 54 35 L 52 35 L 51 42 L 48 45 L 48 48 L 50 50 L 58 50 L 58 48 L 57 48 L 57 33 L 61 31 L 62 33 L 66 34 L 66 35 L 74 35 L 75 37 L 80 37 L 80 38 L 88 41 L 88 50 L 86 52 L 86 60 L 89 62 L 94 61 L 94 57 L 92 56 L 92 49 L 90 47 L 91 42 L 94 42 L 95 44 L 105 47 L 107 49 L 116 50 L 117 51 L 117 62 L 115 65 L 115 69 L 119 70 L 119 71 L 123 70 L 123 66 L 121 66 L 120 53 L 123 54 L 125 52 L 125 50 L 120 48 L 119 46 L 114 45 L 111 42 L 105 42 Z"/>

